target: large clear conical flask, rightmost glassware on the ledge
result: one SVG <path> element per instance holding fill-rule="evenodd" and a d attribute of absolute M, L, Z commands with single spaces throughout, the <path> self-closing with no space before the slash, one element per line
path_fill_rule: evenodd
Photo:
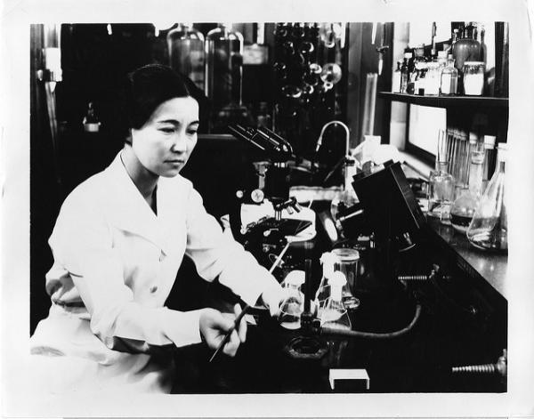
<path fill-rule="evenodd" d="M 507 253 L 508 220 L 505 189 L 506 144 L 498 146 L 498 165 L 467 229 L 469 242 L 480 249 Z"/>

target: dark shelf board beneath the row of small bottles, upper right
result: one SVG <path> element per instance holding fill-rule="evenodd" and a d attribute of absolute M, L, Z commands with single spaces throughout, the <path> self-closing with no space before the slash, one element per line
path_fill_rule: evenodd
<path fill-rule="evenodd" d="M 388 101 L 401 101 L 412 105 L 429 106 L 433 108 L 508 108 L 508 98 L 493 98 L 483 96 L 420 96 L 407 93 L 380 92 L 378 97 Z"/>

